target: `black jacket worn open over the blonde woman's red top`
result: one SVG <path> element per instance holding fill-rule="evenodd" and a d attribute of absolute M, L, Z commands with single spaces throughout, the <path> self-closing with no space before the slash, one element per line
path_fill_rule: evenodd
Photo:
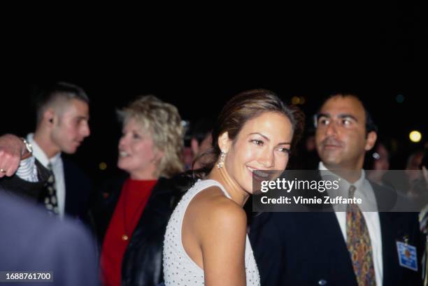
<path fill-rule="evenodd" d="M 111 217 L 127 177 L 108 183 L 104 192 L 110 192 L 104 207 L 94 210 L 97 236 L 102 245 Z M 176 204 L 187 190 L 190 178 L 159 178 L 131 236 L 122 262 L 122 285 L 157 286 L 164 281 L 162 248 L 166 224 Z"/>

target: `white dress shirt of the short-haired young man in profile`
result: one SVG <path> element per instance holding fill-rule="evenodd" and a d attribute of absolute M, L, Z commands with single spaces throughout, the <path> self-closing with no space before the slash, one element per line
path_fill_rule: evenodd
<path fill-rule="evenodd" d="M 65 208 L 65 180 L 64 180 L 64 165 L 62 163 L 61 152 L 54 157 L 48 158 L 48 155 L 43 152 L 41 147 L 34 141 L 34 134 L 30 133 L 27 135 L 27 141 L 31 143 L 33 147 L 33 156 L 38 159 L 39 162 L 46 168 L 48 164 L 52 166 L 52 172 L 55 176 L 55 188 L 57 190 L 57 201 L 59 217 L 64 217 Z"/>

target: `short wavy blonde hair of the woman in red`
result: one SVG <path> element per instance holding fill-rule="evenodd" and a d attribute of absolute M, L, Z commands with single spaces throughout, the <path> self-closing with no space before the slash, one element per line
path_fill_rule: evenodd
<path fill-rule="evenodd" d="M 138 96 L 117 112 L 123 124 L 134 119 L 148 131 L 155 148 L 164 153 L 157 164 L 156 176 L 171 178 L 185 170 L 183 163 L 184 130 L 178 109 L 156 96 Z"/>

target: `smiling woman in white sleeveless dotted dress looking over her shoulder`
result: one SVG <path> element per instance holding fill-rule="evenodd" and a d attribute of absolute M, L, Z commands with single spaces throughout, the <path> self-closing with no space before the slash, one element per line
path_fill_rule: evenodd
<path fill-rule="evenodd" d="M 227 102 L 213 129 L 214 160 L 166 228 L 166 286 L 259 285 L 243 205 L 253 192 L 254 171 L 287 166 L 297 121 L 295 110 L 268 90 Z"/>

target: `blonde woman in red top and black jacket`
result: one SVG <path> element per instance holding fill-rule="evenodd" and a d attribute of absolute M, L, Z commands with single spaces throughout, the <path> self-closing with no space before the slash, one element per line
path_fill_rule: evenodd
<path fill-rule="evenodd" d="M 162 241 L 184 170 L 183 127 L 175 106 L 142 96 L 120 111 L 117 167 L 127 176 L 106 184 L 95 212 L 104 285 L 158 285 Z"/>

